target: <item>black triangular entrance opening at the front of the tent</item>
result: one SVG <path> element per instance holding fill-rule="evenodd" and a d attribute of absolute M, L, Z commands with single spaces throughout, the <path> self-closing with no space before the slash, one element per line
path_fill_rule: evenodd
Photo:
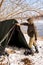
<path fill-rule="evenodd" d="M 15 26 L 9 45 L 28 48 L 26 39 L 19 26 Z"/>

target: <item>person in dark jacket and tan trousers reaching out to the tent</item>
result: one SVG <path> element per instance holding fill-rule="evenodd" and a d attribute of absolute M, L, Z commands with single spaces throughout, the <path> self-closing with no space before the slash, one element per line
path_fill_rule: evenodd
<path fill-rule="evenodd" d="M 37 47 L 37 45 L 36 45 L 36 41 L 37 41 L 37 30 L 36 30 L 36 27 L 35 27 L 35 25 L 34 25 L 34 23 L 33 23 L 33 19 L 32 19 L 32 18 L 27 19 L 27 21 L 28 21 L 27 23 L 21 23 L 21 24 L 17 24 L 17 25 L 18 25 L 18 26 L 20 26 L 20 25 L 28 26 L 27 34 L 28 34 L 28 36 L 30 37 L 28 47 L 29 47 L 30 53 L 31 53 L 32 55 L 34 55 L 34 51 L 33 51 L 33 49 L 32 49 L 32 46 L 33 46 L 33 45 L 34 45 L 34 47 L 35 47 L 36 52 L 39 53 L 38 47 Z M 29 51 L 26 50 L 26 51 L 24 52 L 24 54 L 25 54 L 25 55 L 29 54 Z"/>

